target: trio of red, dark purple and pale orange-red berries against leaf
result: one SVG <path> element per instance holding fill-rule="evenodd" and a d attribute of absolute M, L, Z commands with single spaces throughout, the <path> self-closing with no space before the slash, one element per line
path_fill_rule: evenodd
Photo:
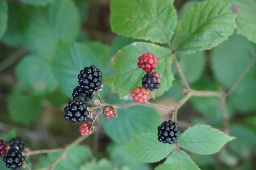
<path fill-rule="evenodd" d="M 142 78 L 142 87 L 134 88 L 131 96 L 135 102 L 145 103 L 150 99 L 149 91 L 160 88 L 161 76 L 154 72 L 157 69 L 157 57 L 152 53 L 145 53 L 139 57 L 138 67 L 146 74 Z"/>

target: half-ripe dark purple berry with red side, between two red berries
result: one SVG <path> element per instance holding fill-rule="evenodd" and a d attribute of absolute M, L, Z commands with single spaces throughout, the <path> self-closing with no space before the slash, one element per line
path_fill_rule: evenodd
<path fill-rule="evenodd" d="M 142 78 L 141 84 L 146 89 L 153 91 L 154 89 L 160 88 L 160 83 L 159 83 L 160 81 L 161 81 L 160 74 L 150 71 L 144 75 L 144 77 Z"/>

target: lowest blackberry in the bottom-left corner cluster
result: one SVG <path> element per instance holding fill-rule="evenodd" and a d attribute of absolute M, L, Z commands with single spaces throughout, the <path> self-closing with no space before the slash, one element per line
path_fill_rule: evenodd
<path fill-rule="evenodd" d="M 6 167 L 17 169 L 17 167 L 20 167 L 23 161 L 25 161 L 25 158 L 19 150 L 13 147 L 8 150 L 7 156 L 3 157 L 3 161 L 6 163 Z"/>

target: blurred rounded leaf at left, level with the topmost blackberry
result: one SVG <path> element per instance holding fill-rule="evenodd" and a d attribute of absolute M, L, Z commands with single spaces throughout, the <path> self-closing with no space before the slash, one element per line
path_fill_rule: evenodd
<path fill-rule="evenodd" d="M 58 85 L 52 74 L 51 63 L 35 55 L 23 57 L 15 74 L 21 83 L 32 86 L 35 93 L 53 91 Z"/>

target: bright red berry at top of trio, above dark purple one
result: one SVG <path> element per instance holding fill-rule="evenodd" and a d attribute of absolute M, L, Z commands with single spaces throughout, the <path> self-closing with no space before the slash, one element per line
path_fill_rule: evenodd
<path fill-rule="evenodd" d="M 145 70 L 147 73 L 149 71 L 157 69 L 157 57 L 152 53 L 145 53 L 139 57 L 138 67 Z"/>

